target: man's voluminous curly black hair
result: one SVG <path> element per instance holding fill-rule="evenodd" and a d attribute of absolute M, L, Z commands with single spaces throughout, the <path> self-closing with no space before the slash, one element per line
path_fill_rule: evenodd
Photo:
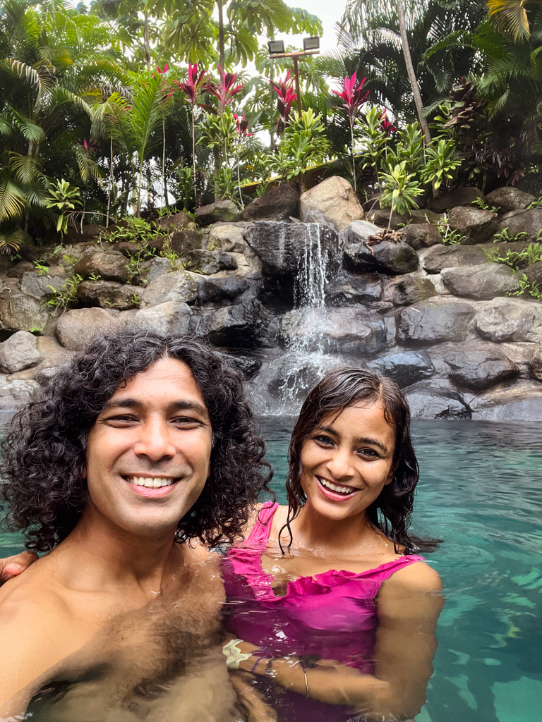
<path fill-rule="evenodd" d="M 2 443 L 6 526 L 45 552 L 74 529 L 87 501 L 87 434 L 118 388 L 162 358 L 186 363 L 209 413 L 210 477 L 177 527 L 176 541 L 233 541 L 272 470 L 255 435 L 244 380 L 224 354 L 184 336 L 121 331 L 91 342 L 18 412 Z"/>

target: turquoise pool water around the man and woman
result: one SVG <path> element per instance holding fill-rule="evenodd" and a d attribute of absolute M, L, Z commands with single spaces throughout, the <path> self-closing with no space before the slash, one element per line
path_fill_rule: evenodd
<path fill-rule="evenodd" d="M 284 500 L 291 422 L 265 419 Z M 542 426 L 419 422 L 419 534 L 446 604 L 416 722 L 536 722 L 542 710 Z M 0 555 L 19 548 L 0 531 Z"/>

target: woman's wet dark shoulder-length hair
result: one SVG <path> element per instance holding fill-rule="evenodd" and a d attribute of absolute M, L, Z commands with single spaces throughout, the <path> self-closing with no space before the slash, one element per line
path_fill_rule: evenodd
<path fill-rule="evenodd" d="M 283 529 L 288 529 L 290 534 L 288 547 L 293 541 L 291 522 L 306 502 L 306 495 L 301 487 L 301 450 L 304 442 L 322 418 L 330 414 L 338 415 L 358 401 L 368 404 L 379 401 L 384 406 L 384 417 L 387 422 L 395 427 L 393 479 L 390 484 L 384 486 L 379 497 L 369 506 L 367 510 L 369 521 L 393 541 L 397 553 L 400 548 L 404 549 L 405 554 L 418 550 L 433 551 L 438 543 L 437 540 L 418 539 L 408 534 L 414 493 L 419 478 L 418 461 L 410 440 L 408 401 L 395 381 L 358 368 L 343 368 L 327 373 L 314 386 L 301 406 L 288 451 L 290 463 L 286 477 L 288 517 L 283 526 Z M 282 550 L 282 546 L 280 548 Z"/>

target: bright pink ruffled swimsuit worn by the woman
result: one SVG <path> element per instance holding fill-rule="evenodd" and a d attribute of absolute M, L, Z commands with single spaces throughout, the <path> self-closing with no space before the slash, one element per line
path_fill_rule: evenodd
<path fill-rule="evenodd" d="M 225 557 L 225 627 L 275 656 L 314 655 L 371 674 L 378 626 L 374 600 L 379 588 L 395 571 L 423 557 L 397 557 L 359 574 L 332 569 L 301 577 L 288 582 L 285 596 L 275 596 L 273 577 L 262 569 L 262 554 L 277 508 L 278 504 L 264 504 L 249 537 Z M 360 719 L 350 707 L 306 700 L 304 695 L 272 687 L 264 677 L 257 680 L 281 722 Z"/>

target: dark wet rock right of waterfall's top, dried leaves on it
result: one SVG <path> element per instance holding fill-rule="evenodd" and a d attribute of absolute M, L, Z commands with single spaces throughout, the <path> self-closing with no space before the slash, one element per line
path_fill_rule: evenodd
<path fill-rule="evenodd" d="M 386 274 L 405 274 L 416 271 L 419 258 L 404 240 L 381 240 L 378 243 L 353 243 L 345 246 L 344 264 L 348 271 L 379 271 Z"/>

